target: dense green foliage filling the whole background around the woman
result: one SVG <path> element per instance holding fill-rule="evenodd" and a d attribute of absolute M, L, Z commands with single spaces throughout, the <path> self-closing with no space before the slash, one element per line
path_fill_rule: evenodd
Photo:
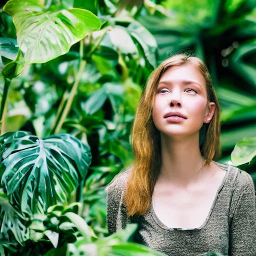
<path fill-rule="evenodd" d="M 132 164 L 138 99 L 172 53 L 206 62 L 219 161 L 256 181 L 254 1 L 9 0 L 0 22 L 0 254 L 162 255 L 133 242 L 136 224 L 108 234 L 105 187 Z"/>

